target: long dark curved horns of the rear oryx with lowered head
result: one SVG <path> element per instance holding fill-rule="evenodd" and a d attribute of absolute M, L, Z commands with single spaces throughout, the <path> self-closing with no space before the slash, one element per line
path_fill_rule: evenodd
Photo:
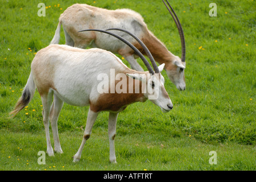
<path fill-rule="evenodd" d="M 181 51 L 182 51 L 182 55 L 181 55 L 181 61 L 185 62 L 186 59 L 186 44 L 185 44 L 185 36 L 184 36 L 184 32 L 181 26 L 181 22 L 179 22 L 178 16 L 176 15 L 175 11 L 173 10 L 173 7 L 171 7 L 170 3 L 166 0 L 166 2 L 168 3 L 169 7 L 166 5 L 165 1 L 162 0 L 163 3 L 165 4 L 167 10 L 169 11 L 169 13 L 171 14 L 171 16 L 173 17 L 173 20 L 179 30 L 179 36 L 181 37 Z M 174 17 L 175 16 L 175 17 Z"/>

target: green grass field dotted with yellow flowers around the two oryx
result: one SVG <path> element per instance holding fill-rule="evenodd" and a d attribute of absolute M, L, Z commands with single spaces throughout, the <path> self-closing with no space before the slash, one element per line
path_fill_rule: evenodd
<path fill-rule="evenodd" d="M 17 117 L 7 119 L 29 77 L 30 63 L 49 45 L 59 15 L 76 2 L 139 12 L 148 28 L 180 56 L 177 28 L 161 0 L 51 0 L 43 2 L 45 17 L 37 15 L 40 2 L 1 0 L 0 170 L 256 169 L 256 1 L 216 0 L 216 17 L 209 16 L 212 1 L 171 1 L 185 32 L 186 90 L 177 90 L 163 71 L 173 110 L 163 114 L 146 101 L 119 114 L 116 165 L 109 163 L 108 113 L 99 114 L 81 161 L 72 162 L 88 107 L 67 104 L 58 120 L 64 154 L 37 163 L 38 151 L 46 151 L 38 92 Z M 65 44 L 63 30 L 60 43 Z M 210 151 L 216 151 L 217 164 L 209 164 Z"/>

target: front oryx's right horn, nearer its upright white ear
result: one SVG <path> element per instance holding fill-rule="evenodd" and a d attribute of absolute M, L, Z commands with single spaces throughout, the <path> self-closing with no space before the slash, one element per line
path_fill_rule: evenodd
<path fill-rule="evenodd" d="M 122 31 L 122 32 L 125 32 L 126 34 L 129 34 L 131 35 L 135 40 L 137 40 L 137 42 L 139 44 L 141 44 L 141 47 L 144 49 L 144 51 L 146 52 L 147 56 L 149 57 L 152 65 L 153 65 L 153 68 L 154 68 L 154 71 L 155 73 L 159 73 L 159 69 L 158 69 L 158 66 L 157 66 L 157 63 L 155 63 L 155 60 L 154 60 L 154 57 L 151 55 L 149 49 L 146 47 L 146 45 L 141 41 L 141 39 L 139 39 L 137 36 L 135 36 L 134 34 L 131 34 L 131 32 L 127 31 L 127 30 L 123 30 L 121 28 L 109 28 L 107 29 L 108 30 L 118 30 L 118 31 Z"/>

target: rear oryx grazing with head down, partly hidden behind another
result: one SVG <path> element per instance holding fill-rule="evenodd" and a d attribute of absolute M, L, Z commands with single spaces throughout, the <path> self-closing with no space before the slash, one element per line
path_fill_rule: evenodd
<path fill-rule="evenodd" d="M 165 2 L 163 1 L 163 3 Z M 169 5 L 169 2 L 167 3 Z M 166 3 L 165 6 L 167 7 Z M 143 18 L 140 14 L 129 9 L 106 10 L 89 5 L 72 5 L 68 7 L 59 17 L 57 30 L 55 31 L 53 40 L 51 40 L 51 44 L 59 43 L 62 24 L 67 45 L 79 48 L 86 48 L 88 46 L 97 47 L 106 49 L 107 51 L 111 51 L 113 53 L 118 53 L 119 55 L 125 57 L 125 59 L 131 65 L 132 69 L 143 71 L 141 66 L 135 60 L 137 55 L 135 55 L 133 49 L 131 49 L 126 44 L 123 44 L 117 39 L 114 39 L 105 34 L 100 34 L 98 32 L 78 32 L 84 29 L 107 30 L 114 27 L 122 28 L 133 33 L 139 39 L 141 39 L 142 42 L 145 43 L 149 48 L 155 60 L 159 64 L 165 63 L 167 76 L 175 84 L 177 89 L 185 90 L 185 38 L 181 23 L 179 22 L 177 15 L 174 13 L 172 8 L 171 10 L 173 13 L 171 13 L 171 10 L 168 7 L 167 9 L 173 17 L 181 37 L 181 59 L 178 56 L 173 55 L 173 53 L 171 53 L 165 47 L 165 45 L 160 40 L 158 40 L 152 32 L 148 30 L 147 25 L 143 21 Z M 145 51 L 143 51 L 142 47 L 133 38 L 127 36 L 126 34 L 120 33 L 119 35 L 129 40 L 129 42 L 131 42 L 135 47 L 139 49 L 139 51 L 143 53 L 143 55 L 145 55 Z"/>

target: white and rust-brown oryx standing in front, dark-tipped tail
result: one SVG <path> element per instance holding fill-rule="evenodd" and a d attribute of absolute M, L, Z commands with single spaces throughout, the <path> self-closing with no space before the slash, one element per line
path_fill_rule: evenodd
<path fill-rule="evenodd" d="M 124 110 L 127 105 L 134 102 L 145 102 L 147 99 L 158 105 L 163 113 L 173 109 L 173 104 L 163 85 L 164 78 L 160 73 L 165 65 L 162 64 L 158 67 L 154 60 L 150 59 L 153 71 L 141 52 L 127 40 L 111 32 L 103 32 L 121 39 L 133 48 L 144 61 L 149 72 L 130 69 L 113 53 L 98 48 L 81 49 L 54 44 L 38 51 L 31 63 L 31 73 L 22 96 L 10 114 L 16 115 L 29 104 L 35 88 L 37 88 L 43 105 L 42 115 L 46 131 L 47 154 L 50 156 L 54 155 L 54 151 L 62 153 L 57 120 L 64 102 L 74 106 L 90 105 L 82 144 L 73 157 L 74 162 L 81 158 L 83 146 L 90 138 L 91 129 L 100 111 L 109 111 L 110 162 L 116 163 L 114 138 L 120 111 Z M 145 47 L 145 45 L 142 46 Z M 114 74 L 111 72 L 113 69 Z M 107 78 L 103 84 L 107 85 L 104 92 L 99 89 L 102 88 L 102 79 L 98 76 L 102 74 Z M 117 78 L 118 76 L 119 78 Z M 113 77 L 114 80 L 111 80 Z M 123 82 L 124 80 L 126 82 Z M 121 82 L 122 84 L 120 84 Z M 122 92 L 117 90 L 118 85 L 119 88 L 122 87 Z M 113 87 L 115 88 L 114 92 L 111 92 Z M 136 88 L 138 88 L 137 92 Z M 53 104 L 51 105 L 52 100 Z M 53 130 L 54 151 L 50 142 L 49 120 Z"/>

